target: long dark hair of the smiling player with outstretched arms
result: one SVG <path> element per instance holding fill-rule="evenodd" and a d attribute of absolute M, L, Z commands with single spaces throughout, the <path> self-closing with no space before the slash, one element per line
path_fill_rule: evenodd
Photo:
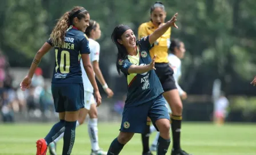
<path fill-rule="evenodd" d="M 113 43 L 117 46 L 117 62 L 116 62 L 116 66 L 117 66 L 117 72 L 120 75 L 120 69 L 119 69 L 119 60 L 120 59 L 126 59 L 128 52 L 125 48 L 125 46 L 123 46 L 122 44 L 120 44 L 117 40 L 121 39 L 121 36 L 123 34 L 123 32 L 125 32 L 126 30 L 131 29 L 129 26 L 126 25 L 118 25 L 114 28 L 114 31 L 112 32 L 111 35 L 111 39 L 113 41 Z"/>

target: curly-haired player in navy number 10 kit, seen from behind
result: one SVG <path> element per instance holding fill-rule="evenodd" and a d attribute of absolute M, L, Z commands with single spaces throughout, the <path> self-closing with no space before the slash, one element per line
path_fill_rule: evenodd
<path fill-rule="evenodd" d="M 45 155 L 47 145 L 64 132 L 62 154 L 71 154 L 75 141 L 75 124 L 79 110 L 83 104 L 83 81 L 79 60 L 83 59 L 83 66 L 94 88 L 97 105 L 101 104 L 93 67 L 90 63 L 89 42 L 86 38 L 86 27 L 89 26 L 90 15 L 83 7 L 74 7 L 57 22 L 51 32 L 50 39 L 43 44 L 35 55 L 29 73 L 21 82 L 21 89 L 28 89 L 35 68 L 51 47 L 55 48 L 55 68 L 51 81 L 55 111 L 59 113 L 59 122 L 53 125 L 45 138 L 37 141 L 37 155 Z"/>

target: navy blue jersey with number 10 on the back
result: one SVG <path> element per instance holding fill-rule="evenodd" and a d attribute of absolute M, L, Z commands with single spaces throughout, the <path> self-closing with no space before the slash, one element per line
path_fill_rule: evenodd
<path fill-rule="evenodd" d="M 47 43 L 53 46 L 51 39 Z M 55 48 L 55 68 L 51 83 L 83 83 L 80 66 L 81 54 L 90 54 L 87 36 L 70 26 L 65 35 L 65 43 Z"/>

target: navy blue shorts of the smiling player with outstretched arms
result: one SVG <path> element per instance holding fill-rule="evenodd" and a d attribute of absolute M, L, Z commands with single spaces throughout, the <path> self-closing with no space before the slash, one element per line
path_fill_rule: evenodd
<path fill-rule="evenodd" d="M 170 120 L 166 102 L 162 95 L 148 103 L 135 107 L 125 107 L 123 109 L 121 132 L 145 133 L 147 116 L 150 117 L 157 130 L 155 121 L 159 119 Z"/>

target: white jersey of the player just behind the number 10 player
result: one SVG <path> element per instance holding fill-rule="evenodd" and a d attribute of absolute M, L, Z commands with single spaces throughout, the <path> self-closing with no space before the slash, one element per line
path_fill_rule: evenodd
<path fill-rule="evenodd" d="M 89 38 L 89 48 L 90 48 L 90 61 L 93 64 L 94 61 L 99 62 L 99 43 L 95 40 Z M 93 93 L 93 85 L 91 85 L 90 80 L 83 68 L 83 62 L 81 59 L 81 67 L 82 67 L 82 78 L 83 78 L 83 89 L 87 92 Z"/>

